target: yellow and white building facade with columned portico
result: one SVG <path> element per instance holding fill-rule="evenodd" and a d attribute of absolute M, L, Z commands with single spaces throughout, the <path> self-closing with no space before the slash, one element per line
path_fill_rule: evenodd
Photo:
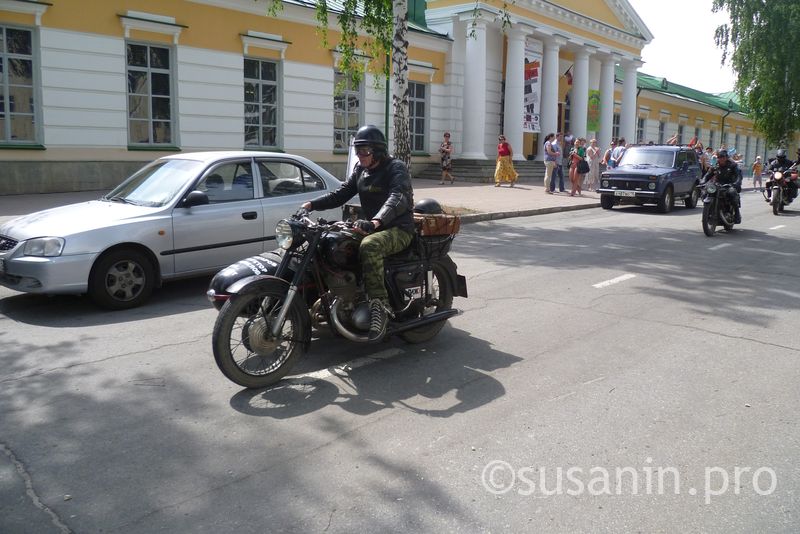
<path fill-rule="evenodd" d="M 312 2 L 270 4 L 0 0 L 0 194 L 107 189 L 197 150 L 293 152 L 341 177 L 360 125 L 391 136 L 385 81 L 337 72 L 335 14 L 322 46 Z M 415 163 L 437 161 L 445 131 L 463 159 L 493 159 L 501 131 L 530 159 L 557 130 L 764 151 L 738 108 L 643 86 L 653 36 L 625 0 L 518 0 L 505 21 L 501 4 L 409 0 Z"/>

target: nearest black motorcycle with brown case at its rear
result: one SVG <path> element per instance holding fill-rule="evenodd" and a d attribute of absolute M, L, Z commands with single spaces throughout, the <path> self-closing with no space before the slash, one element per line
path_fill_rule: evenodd
<path fill-rule="evenodd" d="M 391 312 L 387 336 L 432 339 L 467 297 L 466 278 L 448 255 L 460 219 L 417 215 L 406 250 L 384 259 Z M 438 233 L 438 235 L 436 235 Z M 311 343 L 312 328 L 367 343 L 370 310 L 358 260 L 363 236 L 352 222 L 316 221 L 305 210 L 276 227 L 279 249 L 217 273 L 207 292 L 219 310 L 212 347 L 220 371 L 246 388 L 269 386 Z"/>

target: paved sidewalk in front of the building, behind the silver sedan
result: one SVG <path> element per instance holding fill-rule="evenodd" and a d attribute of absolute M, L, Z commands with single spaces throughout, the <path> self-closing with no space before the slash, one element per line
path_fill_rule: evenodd
<path fill-rule="evenodd" d="M 460 212 L 463 223 L 600 206 L 600 197 L 596 193 L 584 192 L 581 197 L 570 197 L 568 193 L 548 195 L 541 184 L 520 183 L 514 187 L 494 187 L 494 184 L 456 181 L 453 185 L 439 185 L 435 180 L 415 179 L 413 186 L 415 200 L 435 198 L 443 206 Z M 94 200 L 107 192 L 0 196 L 0 223 L 34 211 Z"/>

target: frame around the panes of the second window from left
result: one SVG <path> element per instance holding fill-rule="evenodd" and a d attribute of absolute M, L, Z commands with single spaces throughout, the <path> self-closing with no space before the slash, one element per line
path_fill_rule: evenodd
<path fill-rule="evenodd" d="M 146 46 L 148 50 L 148 66 L 144 67 L 134 67 L 128 63 L 128 46 Z M 151 48 L 163 48 L 166 49 L 169 53 L 169 69 L 156 69 L 156 73 L 163 74 L 164 71 L 167 71 L 167 75 L 169 76 L 169 110 L 170 110 L 170 119 L 169 121 L 164 120 L 155 120 L 153 118 L 153 80 L 152 80 L 152 67 L 150 66 L 150 49 Z M 156 42 L 148 42 L 148 41 L 141 41 L 137 39 L 125 39 L 125 111 L 126 111 L 126 128 L 127 128 L 127 137 L 128 137 L 128 149 L 129 150 L 163 150 L 168 148 L 176 148 L 179 146 L 179 139 L 178 134 L 180 129 L 178 127 L 178 95 L 177 95 L 177 53 L 175 50 L 174 45 L 169 45 L 166 43 L 156 43 Z M 131 129 L 131 109 L 130 109 L 130 102 L 131 96 L 142 96 L 140 93 L 131 93 L 130 92 L 130 80 L 129 75 L 130 72 L 147 72 L 148 75 L 148 82 L 149 87 L 147 93 L 147 102 L 148 102 L 148 142 L 134 142 L 132 139 L 132 129 Z M 134 122 L 144 122 L 142 119 L 134 119 Z M 153 123 L 154 122 L 168 122 L 170 128 L 170 139 L 168 142 L 164 143 L 155 143 L 152 141 L 153 139 Z"/>

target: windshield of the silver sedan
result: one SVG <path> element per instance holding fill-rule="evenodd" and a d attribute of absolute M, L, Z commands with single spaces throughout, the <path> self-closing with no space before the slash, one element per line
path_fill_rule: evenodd
<path fill-rule="evenodd" d="M 172 202 L 187 182 L 204 168 L 200 161 L 169 159 L 154 161 L 103 197 L 110 202 L 161 207 Z"/>

